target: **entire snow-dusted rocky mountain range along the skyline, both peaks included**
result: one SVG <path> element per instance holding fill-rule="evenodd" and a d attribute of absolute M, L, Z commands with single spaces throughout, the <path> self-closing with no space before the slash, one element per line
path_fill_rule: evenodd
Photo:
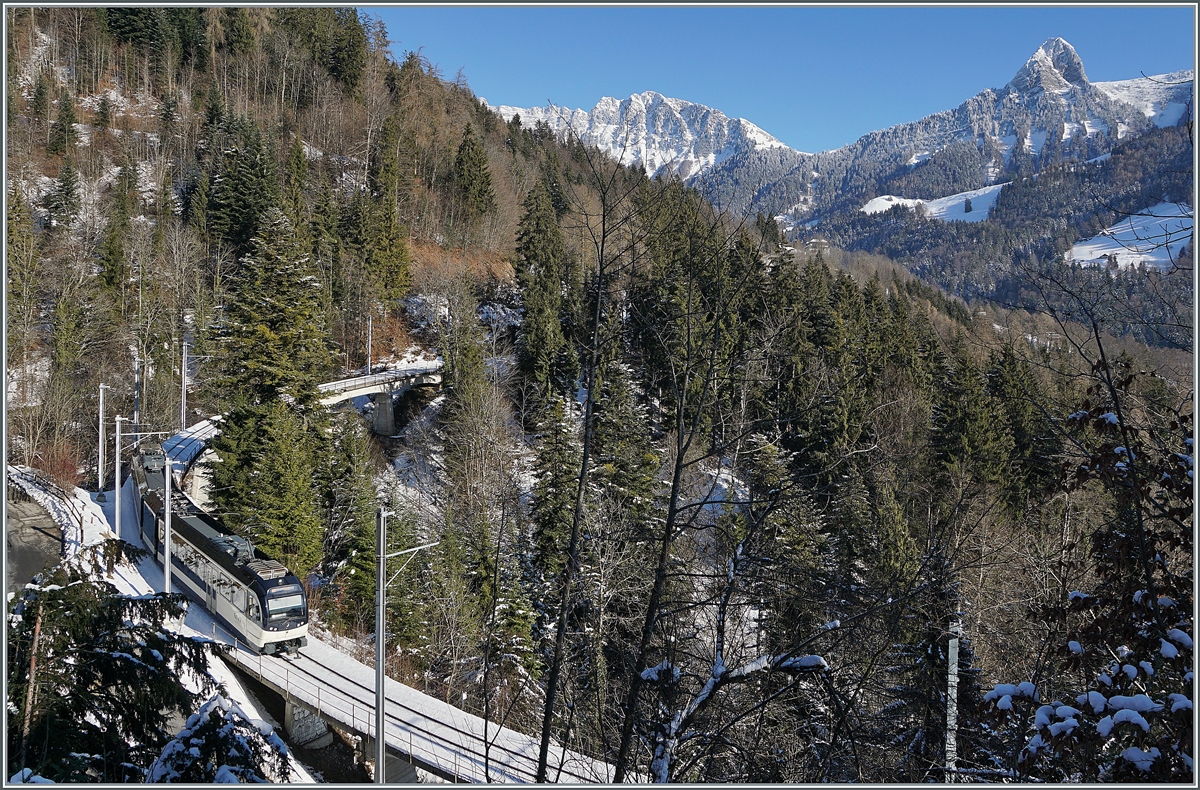
<path fill-rule="evenodd" d="M 1075 49 L 1050 38 L 1003 88 L 821 154 L 793 150 L 748 120 L 653 91 L 606 97 L 590 112 L 553 104 L 496 109 L 505 120 L 520 115 L 527 127 L 545 122 L 560 136 L 575 133 L 652 176 L 678 175 L 730 211 L 799 222 L 860 207 L 881 190 L 930 199 L 1006 180 L 1026 161 L 1036 170 L 1099 156 L 1120 139 L 1178 122 L 1192 79 L 1187 71 L 1091 83 Z"/>

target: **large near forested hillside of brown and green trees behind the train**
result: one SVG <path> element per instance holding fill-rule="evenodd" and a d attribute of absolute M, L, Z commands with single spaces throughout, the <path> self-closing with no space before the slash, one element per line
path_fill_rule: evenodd
<path fill-rule="evenodd" d="M 10 462 L 92 485 L 101 383 L 178 430 L 186 342 L 212 507 L 314 629 L 371 660 L 386 507 L 391 550 L 437 543 L 389 588 L 388 671 L 618 782 L 1192 779 L 1170 293 L 1030 265 L 1008 311 L 793 250 L 505 124 L 354 10 L 7 13 Z M 1176 347 L 1114 339 L 1136 322 Z M 443 361 L 397 437 L 319 402 L 368 353 Z M 136 778 L 145 744 L 65 759 L 13 623 L 10 776 Z"/>

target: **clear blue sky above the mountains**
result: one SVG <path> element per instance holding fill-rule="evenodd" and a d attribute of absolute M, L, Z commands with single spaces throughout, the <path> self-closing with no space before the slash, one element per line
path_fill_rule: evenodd
<path fill-rule="evenodd" d="M 360 6 L 492 104 L 655 90 L 838 148 L 1000 88 L 1046 38 L 1093 82 L 1195 65 L 1193 6 Z"/>

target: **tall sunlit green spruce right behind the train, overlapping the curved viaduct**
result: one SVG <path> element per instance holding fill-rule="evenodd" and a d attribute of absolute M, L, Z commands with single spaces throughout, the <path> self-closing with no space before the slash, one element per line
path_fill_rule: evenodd
<path fill-rule="evenodd" d="M 320 295 L 308 255 L 271 209 L 212 333 L 218 373 L 208 383 L 230 409 L 212 442 L 212 501 L 269 553 L 296 563 L 298 574 L 322 556 L 312 490 L 324 425 L 317 384 L 332 364 Z"/>

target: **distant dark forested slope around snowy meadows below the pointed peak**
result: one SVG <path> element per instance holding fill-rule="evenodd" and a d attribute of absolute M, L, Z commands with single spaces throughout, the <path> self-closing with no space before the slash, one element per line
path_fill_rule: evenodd
<path fill-rule="evenodd" d="M 973 148 L 968 149 L 970 162 Z M 913 197 L 953 191 L 956 182 L 938 181 L 950 154 L 952 149 L 941 151 L 878 191 Z M 1172 325 L 1172 312 L 1190 312 L 1193 304 L 1190 247 L 1165 270 L 1080 267 L 1064 263 L 1063 253 L 1074 243 L 1157 204 L 1189 207 L 1192 157 L 1190 126 L 1151 130 L 1091 162 L 1045 161 L 1036 174 L 1032 163 L 1020 166 L 1014 157 L 1012 181 L 984 221 L 943 222 L 902 207 L 868 215 L 852 207 L 806 228 L 800 238 L 820 237 L 844 249 L 888 256 L 928 282 L 971 300 L 1037 310 L 1040 297 L 1028 280 L 1031 271 L 1043 269 L 1073 287 L 1126 291 L 1140 309 L 1129 321 L 1114 324 L 1114 331 L 1132 333 L 1154 346 L 1189 348 L 1190 325 Z M 1154 243 L 1147 238 L 1140 246 Z M 1170 310 L 1162 311 L 1164 304 Z"/>

